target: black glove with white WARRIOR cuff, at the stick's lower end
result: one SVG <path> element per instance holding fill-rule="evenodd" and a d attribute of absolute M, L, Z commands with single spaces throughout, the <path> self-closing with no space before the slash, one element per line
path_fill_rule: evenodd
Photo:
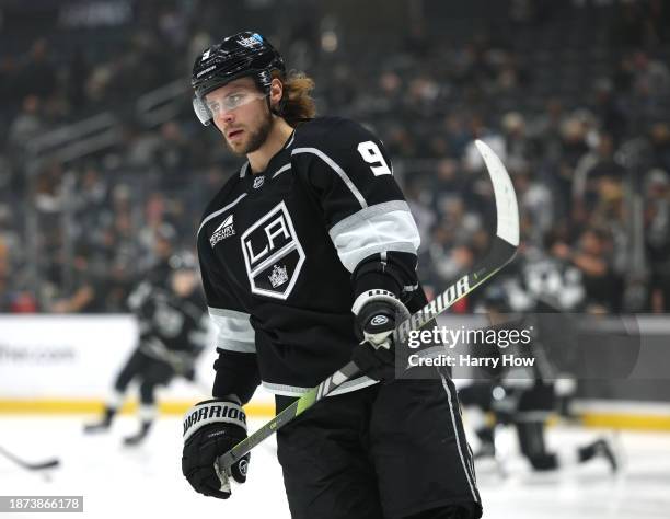
<path fill-rule="evenodd" d="M 247 453 L 228 471 L 217 459 L 246 438 L 246 415 L 234 397 L 208 400 L 194 405 L 184 416 L 182 473 L 196 492 L 228 499 L 230 478 L 246 481 Z"/>

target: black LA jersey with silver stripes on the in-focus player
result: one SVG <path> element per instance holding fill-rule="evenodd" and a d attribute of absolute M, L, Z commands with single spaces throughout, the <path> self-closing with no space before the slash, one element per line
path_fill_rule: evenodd
<path fill-rule="evenodd" d="M 298 127 L 264 172 L 245 164 L 209 204 L 197 244 L 217 380 L 227 379 L 215 395 L 245 401 L 254 378 L 284 395 L 316 385 L 349 361 L 359 342 L 351 305 L 366 289 L 392 289 L 409 310 L 425 301 L 420 292 L 412 302 L 419 235 L 389 157 L 347 119 Z"/>

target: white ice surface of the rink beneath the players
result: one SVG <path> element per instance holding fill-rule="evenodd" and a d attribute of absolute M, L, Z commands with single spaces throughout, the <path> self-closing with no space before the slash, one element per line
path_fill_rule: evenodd
<path fill-rule="evenodd" d="M 51 457 L 61 468 L 27 472 L 0 458 L 0 495 L 83 495 L 84 514 L 58 517 L 289 518 L 276 461 L 275 440 L 258 446 L 247 483 L 228 500 L 194 493 L 180 469 L 181 422 L 161 418 L 147 442 L 122 447 L 135 418 L 123 416 L 112 431 L 84 436 L 77 417 L 0 416 L 0 445 L 30 461 Z M 265 418 L 251 420 L 255 430 Z M 550 445 L 571 449 L 598 436 L 593 429 L 555 427 Z M 538 474 L 518 457 L 511 431 L 499 437 L 501 464 L 484 461 L 477 480 L 486 518 L 668 518 L 670 514 L 670 434 L 623 432 L 619 441 L 626 465 L 617 476 L 597 460 L 558 473 Z M 449 477 L 449 469 L 444 469 Z M 11 514 L 2 517 L 11 517 Z M 19 518 L 44 517 L 16 514 Z M 315 518 L 317 519 L 317 518 Z"/>

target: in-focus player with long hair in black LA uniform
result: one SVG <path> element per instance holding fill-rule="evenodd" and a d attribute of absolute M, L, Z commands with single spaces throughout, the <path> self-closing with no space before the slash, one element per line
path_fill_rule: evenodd
<path fill-rule="evenodd" d="M 427 301 L 418 231 L 381 141 L 314 118 L 312 80 L 287 74 L 257 33 L 206 49 L 193 86 L 199 119 L 246 161 L 197 235 L 219 357 L 213 399 L 184 424 L 190 485 L 226 499 L 246 480 L 249 454 L 231 473 L 215 460 L 246 437 L 242 406 L 258 383 L 279 412 L 354 358 L 363 374 L 277 432 L 292 517 L 481 517 L 453 382 L 392 380 L 396 314 Z"/>

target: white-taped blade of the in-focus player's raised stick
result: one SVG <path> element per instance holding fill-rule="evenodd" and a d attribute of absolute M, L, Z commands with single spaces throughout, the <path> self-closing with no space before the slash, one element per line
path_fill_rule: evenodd
<path fill-rule="evenodd" d="M 511 178 L 503 161 L 486 142 L 475 140 L 475 146 L 484 159 L 494 186 L 498 220 L 496 234 L 516 247 L 519 245 L 519 207 Z"/>

